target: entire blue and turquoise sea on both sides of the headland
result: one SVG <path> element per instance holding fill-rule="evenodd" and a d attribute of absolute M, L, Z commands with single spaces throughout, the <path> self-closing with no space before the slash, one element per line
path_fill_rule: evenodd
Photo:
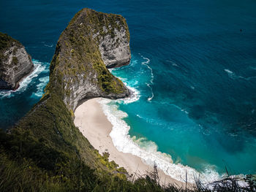
<path fill-rule="evenodd" d="M 118 103 L 135 141 L 153 141 L 176 164 L 201 172 L 255 173 L 254 0 L 0 1 L 0 31 L 39 65 L 28 85 L 1 93 L 0 128 L 39 101 L 59 35 L 83 7 L 127 19 L 132 61 L 112 72 L 140 96 Z"/>

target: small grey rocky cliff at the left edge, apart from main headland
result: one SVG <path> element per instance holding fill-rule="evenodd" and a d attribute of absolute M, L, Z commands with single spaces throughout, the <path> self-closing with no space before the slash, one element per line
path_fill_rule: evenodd
<path fill-rule="evenodd" d="M 0 32 L 0 89 L 18 88 L 18 82 L 32 69 L 31 56 L 25 47 Z"/>

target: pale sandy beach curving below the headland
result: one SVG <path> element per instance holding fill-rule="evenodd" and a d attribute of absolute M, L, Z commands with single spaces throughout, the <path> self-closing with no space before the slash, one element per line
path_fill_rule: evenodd
<path fill-rule="evenodd" d="M 140 157 L 131 153 L 123 153 L 116 149 L 110 137 L 113 125 L 106 117 L 97 99 L 89 99 L 83 102 L 75 110 L 74 114 L 75 126 L 79 128 L 91 145 L 99 150 L 101 155 L 104 152 L 110 154 L 109 161 L 115 161 L 119 167 L 124 167 L 130 175 L 135 175 L 135 178 L 154 170 L 152 166 L 143 163 Z M 185 188 L 186 183 L 173 179 L 161 169 L 157 170 L 161 185 L 172 183 L 178 187 Z M 188 188 L 189 184 L 187 183 Z"/>

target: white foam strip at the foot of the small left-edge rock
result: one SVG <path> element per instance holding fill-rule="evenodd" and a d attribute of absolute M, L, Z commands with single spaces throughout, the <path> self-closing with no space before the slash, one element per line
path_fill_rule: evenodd
<path fill-rule="evenodd" d="M 12 97 L 13 96 L 12 93 L 18 93 L 18 92 L 26 91 L 26 88 L 28 87 L 29 83 L 31 82 L 31 80 L 34 77 L 37 77 L 41 72 L 47 72 L 48 71 L 48 69 L 46 69 L 46 66 L 43 65 L 39 61 L 33 60 L 33 64 L 34 64 L 33 72 L 31 72 L 31 74 L 29 74 L 29 76 L 27 76 L 26 78 L 24 78 L 20 82 L 20 86 L 17 90 L 15 90 L 15 91 L 0 91 L 0 96 L 1 97 Z"/>

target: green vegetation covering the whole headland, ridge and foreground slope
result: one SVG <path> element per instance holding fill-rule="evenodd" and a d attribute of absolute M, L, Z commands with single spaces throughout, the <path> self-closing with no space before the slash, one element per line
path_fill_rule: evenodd
<path fill-rule="evenodd" d="M 91 9 L 70 21 L 56 45 L 44 96 L 10 131 L 0 130 L 0 191 L 185 191 L 160 186 L 156 174 L 127 180 L 126 170 L 109 162 L 107 153 L 99 155 L 73 123 L 80 100 L 127 96 L 127 88 L 106 69 L 94 37 L 104 36 L 103 26 L 112 33 L 109 26 L 119 25 L 127 28 L 120 15 Z M 86 85 L 97 93 L 83 92 Z"/>

